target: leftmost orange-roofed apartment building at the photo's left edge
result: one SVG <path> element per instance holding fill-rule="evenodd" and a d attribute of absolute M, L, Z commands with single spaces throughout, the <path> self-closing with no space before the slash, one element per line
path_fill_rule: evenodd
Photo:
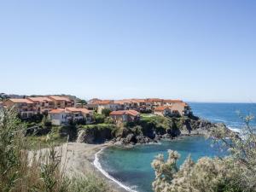
<path fill-rule="evenodd" d="M 6 108 L 15 108 L 21 119 L 28 119 L 37 113 L 34 103 L 28 99 L 8 99 L 3 102 Z"/>

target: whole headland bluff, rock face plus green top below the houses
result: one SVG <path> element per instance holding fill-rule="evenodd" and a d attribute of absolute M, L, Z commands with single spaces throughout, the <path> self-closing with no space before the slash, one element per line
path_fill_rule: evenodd
<path fill-rule="evenodd" d="M 86 125 L 78 131 L 78 143 L 117 144 L 157 143 L 160 139 L 181 136 L 207 135 L 220 124 L 198 117 L 144 117 L 138 122 L 123 125 Z M 222 125 L 225 126 L 225 125 Z"/>

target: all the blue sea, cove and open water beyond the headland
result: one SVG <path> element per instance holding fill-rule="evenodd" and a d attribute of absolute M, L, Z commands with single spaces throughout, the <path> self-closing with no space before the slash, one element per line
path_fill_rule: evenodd
<path fill-rule="evenodd" d="M 241 131 L 247 115 L 256 116 L 254 103 L 201 103 L 190 102 L 193 113 L 201 119 L 224 123 L 233 131 Z M 256 126 L 256 119 L 251 122 Z M 191 155 L 193 160 L 203 156 L 223 156 L 225 152 L 205 137 L 182 137 L 172 141 L 136 145 L 132 148 L 106 148 L 96 154 L 95 166 L 114 183 L 130 192 L 152 192 L 154 170 L 151 162 L 157 154 L 167 156 L 167 150 L 176 150 L 180 166 Z"/>

